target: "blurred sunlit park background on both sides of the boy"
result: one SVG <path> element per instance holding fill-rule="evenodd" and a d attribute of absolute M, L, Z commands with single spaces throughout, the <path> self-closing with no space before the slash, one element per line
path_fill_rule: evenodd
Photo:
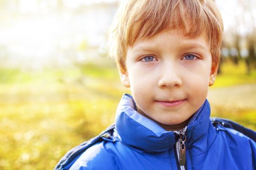
<path fill-rule="evenodd" d="M 212 116 L 256 130 L 256 1 L 215 0 L 222 62 Z M 51 170 L 115 120 L 107 34 L 117 0 L 0 0 L 0 170 Z"/>

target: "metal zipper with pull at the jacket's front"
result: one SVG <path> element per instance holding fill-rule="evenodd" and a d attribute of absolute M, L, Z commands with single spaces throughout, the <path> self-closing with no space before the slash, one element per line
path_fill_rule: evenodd
<path fill-rule="evenodd" d="M 186 165 L 186 145 L 185 145 L 185 141 L 187 139 L 187 136 L 185 135 L 186 131 L 187 131 L 187 126 L 180 131 L 174 132 L 179 136 L 176 142 L 176 153 L 178 157 L 178 164 L 179 164 L 180 170 L 185 170 L 185 165 Z"/>

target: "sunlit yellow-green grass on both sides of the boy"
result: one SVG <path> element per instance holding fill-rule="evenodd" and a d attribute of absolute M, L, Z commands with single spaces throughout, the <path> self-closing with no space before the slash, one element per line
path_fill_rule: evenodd
<path fill-rule="evenodd" d="M 256 83 L 256 71 L 223 64 L 214 88 Z M 69 149 L 115 121 L 123 93 L 114 65 L 43 72 L 0 69 L 0 170 L 53 169 Z M 255 110 L 216 108 L 213 116 L 256 129 Z"/>

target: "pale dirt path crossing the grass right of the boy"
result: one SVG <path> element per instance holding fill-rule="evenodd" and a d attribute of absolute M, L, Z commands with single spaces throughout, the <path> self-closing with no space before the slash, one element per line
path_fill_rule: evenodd
<path fill-rule="evenodd" d="M 210 89 L 207 99 L 213 107 L 256 109 L 256 84 Z"/>

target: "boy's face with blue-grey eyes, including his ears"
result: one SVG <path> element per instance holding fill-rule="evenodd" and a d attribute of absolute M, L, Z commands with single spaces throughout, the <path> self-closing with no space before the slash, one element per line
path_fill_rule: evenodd
<path fill-rule="evenodd" d="M 177 30 L 137 40 L 127 51 L 125 65 L 121 81 L 131 87 L 138 110 L 170 125 L 200 108 L 217 74 L 204 36 L 191 39 Z"/>

